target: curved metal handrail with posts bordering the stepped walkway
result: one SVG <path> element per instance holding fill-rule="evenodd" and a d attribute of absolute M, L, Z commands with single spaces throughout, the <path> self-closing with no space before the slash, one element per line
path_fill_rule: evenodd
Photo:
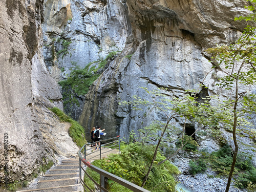
<path fill-rule="evenodd" d="M 119 141 L 119 151 L 120 151 L 120 136 L 117 136 L 117 137 L 114 137 L 114 138 L 110 138 L 110 139 L 104 139 L 104 140 L 101 140 L 100 141 L 100 158 L 101 158 L 101 142 L 102 141 L 108 141 L 108 140 L 114 140 L 114 139 L 118 139 Z M 94 142 L 96 143 L 96 142 Z M 113 143 L 113 142 L 110 142 L 110 143 Z M 98 174 L 100 174 L 100 184 L 98 184 L 96 181 L 94 181 L 91 177 L 89 177 L 99 188 L 100 188 L 100 191 L 101 192 L 109 192 L 108 189 L 105 188 L 105 179 L 106 178 L 109 178 L 115 182 L 117 182 L 118 184 L 121 184 L 123 185 L 124 187 L 126 188 L 129 188 L 131 189 L 132 191 L 135 191 L 135 192 L 150 192 L 149 190 L 146 190 L 138 185 L 135 185 L 134 183 L 130 182 L 130 181 L 126 181 L 125 179 L 122 179 L 118 176 L 115 176 L 114 174 L 111 174 L 109 172 L 106 172 L 105 170 L 95 166 L 95 165 L 92 165 L 90 162 L 87 162 L 86 161 L 86 146 L 87 145 L 91 145 L 93 143 L 87 143 L 87 144 L 84 144 L 82 146 L 82 148 L 79 150 L 78 152 L 78 157 L 79 157 L 79 178 L 80 178 L 80 183 L 82 184 L 83 188 L 85 191 L 89 190 L 89 191 L 92 191 L 92 189 L 89 188 L 89 186 L 87 186 L 84 182 L 83 182 L 83 178 L 81 178 L 81 170 L 83 170 L 84 173 L 86 173 L 86 170 L 84 170 L 82 168 L 82 163 L 84 165 L 86 165 L 87 167 L 91 168 L 92 170 L 94 170 L 95 172 L 97 172 Z M 109 143 L 105 143 L 104 145 L 107 145 Z M 83 150 L 84 148 L 84 158 L 82 158 L 82 155 L 81 155 L 81 151 Z M 87 174 L 87 173 L 86 173 Z"/>

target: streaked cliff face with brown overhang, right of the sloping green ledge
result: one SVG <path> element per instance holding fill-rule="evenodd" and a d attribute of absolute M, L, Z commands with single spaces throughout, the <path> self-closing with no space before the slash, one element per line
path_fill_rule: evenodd
<path fill-rule="evenodd" d="M 208 89 L 202 94 L 220 93 L 215 88 L 219 69 L 211 69 L 210 57 L 204 50 L 229 43 L 241 34 L 245 24 L 234 22 L 233 18 L 248 13 L 244 3 L 127 1 L 132 34 L 119 57 L 86 95 L 80 122 L 88 130 L 98 124 L 109 135 L 127 139 L 132 130 L 137 134 L 153 119 L 163 120 L 146 109 L 138 112 L 118 105 L 133 95 L 147 97 L 139 87 L 166 88 L 166 95 L 180 97 L 185 90 L 197 89 L 203 83 Z M 178 119 L 172 123 L 182 126 Z"/>

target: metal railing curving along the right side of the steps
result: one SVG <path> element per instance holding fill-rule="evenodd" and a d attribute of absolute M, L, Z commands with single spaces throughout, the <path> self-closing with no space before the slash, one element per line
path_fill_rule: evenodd
<path fill-rule="evenodd" d="M 96 143 L 96 142 L 94 142 Z M 109 172 L 106 172 L 105 170 L 95 166 L 95 165 L 92 165 L 90 162 L 87 162 L 86 161 L 86 157 L 88 155 L 91 155 L 93 153 L 96 153 L 97 151 L 94 151 L 94 152 L 90 152 L 87 154 L 87 149 L 86 149 L 86 146 L 87 145 L 91 145 L 91 144 L 94 144 L 94 143 L 87 143 L 85 145 L 82 146 L 82 148 L 80 149 L 80 151 L 78 152 L 78 156 L 79 156 L 79 178 L 80 178 L 80 183 L 82 184 L 83 186 L 83 189 L 84 191 L 91 191 L 93 192 L 93 190 L 86 184 L 84 183 L 83 181 L 83 178 L 82 178 L 82 171 L 84 172 L 84 174 L 86 174 L 88 176 L 88 178 L 94 182 L 94 184 L 96 186 L 99 187 L 100 191 L 101 192 L 109 192 L 107 188 L 108 184 L 108 179 L 111 179 L 113 181 L 115 181 L 116 183 L 120 184 L 120 185 L 123 185 L 124 187 L 126 188 L 129 188 L 131 189 L 132 191 L 136 191 L 136 192 L 150 192 L 149 190 L 146 190 L 138 185 L 135 185 L 129 181 L 126 181 L 125 179 L 122 179 L 118 176 L 115 176 Z M 117 137 L 114 137 L 114 138 L 110 138 L 110 139 L 104 139 L 104 140 L 101 140 L 100 141 L 100 153 L 99 153 L 99 159 L 101 159 L 101 149 L 102 147 L 104 148 L 111 148 L 112 150 L 115 150 L 118 148 L 118 150 L 120 151 L 120 136 L 117 136 Z M 108 152 L 112 151 L 112 150 L 109 150 Z M 82 151 L 84 152 L 84 155 L 82 157 Z M 103 152 L 103 153 L 107 153 L 107 152 Z M 103 154 L 102 153 L 102 154 Z M 87 172 L 86 170 L 82 167 L 82 165 L 86 165 L 87 168 L 90 168 L 92 170 L 94 170 L 95 172 L 97 172 L 99 175 L 100 175 L 100 183 L 97 183 Z"/>

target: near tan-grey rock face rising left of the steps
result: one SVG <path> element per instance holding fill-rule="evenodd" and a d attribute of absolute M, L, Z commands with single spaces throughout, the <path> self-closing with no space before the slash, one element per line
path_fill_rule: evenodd
<path fill-rule="evenodd" d="M 28 179 L 54 154 L 70 155 L 54 142 L 55 126 L 62 126 L 48 110 L 61 109 L 62 96 L 42 57 L 42 4 L 0 2 L 1 183 Z"/>

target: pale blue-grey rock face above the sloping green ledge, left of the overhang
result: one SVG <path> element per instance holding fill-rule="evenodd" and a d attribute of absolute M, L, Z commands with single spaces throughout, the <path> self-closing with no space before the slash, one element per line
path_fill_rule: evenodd
<path fill-rule="evenodd" d="M 131 34 L 127 9 L 120 1 L 47 0 L 44 9 L 44 57 L 57 82 L 74 66 L 84 68 L 121 51 Z M 78 119 L 84 96 L 74 97 L 79 104 L 67 105 L 65 112 Z"/>

